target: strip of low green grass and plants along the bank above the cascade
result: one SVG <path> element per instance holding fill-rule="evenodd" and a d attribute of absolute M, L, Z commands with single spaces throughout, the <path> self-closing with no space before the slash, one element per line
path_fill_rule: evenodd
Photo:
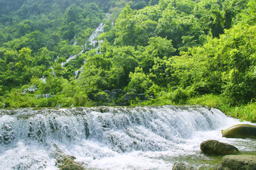
<path fill-rule="evenodd" d="M 32 95 L 32 94 L 31 94 Z M 131 96 L 131 94 L 129 94 Z M 102 95 L 103 96 L 103 95 Z M 129 97 L 130 97 L 129 96 Z M 156 94 L 154 97 L 145 97 L 145 95 L 142 95 L 144 98 L 141 99 L 141 96 L 132 96 L 132 98 L 128 98 L 126 101 L 119 101 L 119 98 L 117 98 L 118 102 L 95 102 L 95 101 L 87 101 L 83 103 L 81 106 L 85 107 L 92 107 L 92 106 L 164 106 L 164 105 L 201 105 L 201 106 L 207 106 L 210 108 L 218 108 L 220 111 L 225 113 L 225 115 L 231 116 L 233 118 L 237 118 L 240 121 L 247 120 L 252 123 L 256 122 L 256 103 L 250 102 L 247 104 L 240 104 L 236 106 L 231 106 L 230 101 L 228 101 L 227 98 L 223 98 L 223 96 L 216 96 L 213 94 L 206 94 L 203 96 L 197 96 L 197 97 L 189 97 L 184 96 L 182 94 L 173 94 L 169 92 L 161 92 L 159 94 Z M 107 98 L 107 96 L 106 96 Z M 28 99 L 28 98 L 26 98 Z M 46 99 L 46 101 L 49 103 L 52 103 L 51 105 L 36 105 L 39 101 L 35 101 L 33 99 L 33 96 L 31 96 L 30 100 L 16 100 L 16 103 L 21 104 L 14 104 L 14 105 L 7 105 L 8 107 L 13 106 L 11 108 L 70 108 L 70 107 L 78 107 L 80 105 L 69 103 L 68 105 L 63 105 L 63 103 L 58 103 L 58 98 L 43 98 Z M 37 99 L 37 100 L 42 100 Z M 29 104 L 24 104 L 24 102 Z M 33 101 L 33 102 L 29 102 Z M 53 102 L 55 101 L 55 102 Z M 40 102 L 39 102 L 40 103 Z M 55 104 L 53 104 L 55 103 Z M 5 103 L 1 103 L 3 105 L 3 108 Z M 68 107 L 70 106 L 70 107 Z"/>

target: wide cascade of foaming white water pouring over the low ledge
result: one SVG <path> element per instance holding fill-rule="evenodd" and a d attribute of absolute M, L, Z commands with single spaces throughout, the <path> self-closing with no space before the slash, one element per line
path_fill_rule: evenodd
<path fill-rule="evenodd" d="M 221 129 L 240 122 L 200 106 L 21 108 L 0 115 L 0 169 L 58 169 L 54 145 L 85 168 L 171 169 L 180 157 L 201 155 L 203 140 L 243 151 L 256 144 L 221 137 Z"/>

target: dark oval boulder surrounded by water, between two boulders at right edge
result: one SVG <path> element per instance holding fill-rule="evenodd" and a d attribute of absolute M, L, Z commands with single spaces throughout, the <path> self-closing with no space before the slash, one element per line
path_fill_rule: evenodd
<path fill-rule="evenodd" d="M 205 154 L 236 154 L 238 148 L 218 140 L 206 140 L 201 143 L 200 149 Z"/>

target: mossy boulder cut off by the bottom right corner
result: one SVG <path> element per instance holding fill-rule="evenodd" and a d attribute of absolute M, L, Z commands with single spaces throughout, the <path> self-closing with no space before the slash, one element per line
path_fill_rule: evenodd
<path fill-rule="evenodd" d="M 226 155 L 215 170 L 256 170 L 256 156 Z"/>

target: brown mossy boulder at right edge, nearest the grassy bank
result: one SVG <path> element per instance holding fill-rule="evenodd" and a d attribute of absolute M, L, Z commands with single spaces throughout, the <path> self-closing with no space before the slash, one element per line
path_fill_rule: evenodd
<path fill-rule="evenodd" d="M 234 125 L 227 130 L 222 130 L 223 137 L 228 138 L 256 138 L 255 125 Z"/>

